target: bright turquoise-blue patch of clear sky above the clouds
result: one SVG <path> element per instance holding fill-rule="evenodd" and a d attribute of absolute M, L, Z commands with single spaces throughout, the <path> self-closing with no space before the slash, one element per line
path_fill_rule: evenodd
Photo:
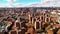
<path fill-rule="evenodd" d="M 11 4 L 15 4 L 15 3 L 28 4 L 32 2 L 40 2 L 40 0 L 0 0 L 0 4 L 7 4 L 8 2 Z"/>

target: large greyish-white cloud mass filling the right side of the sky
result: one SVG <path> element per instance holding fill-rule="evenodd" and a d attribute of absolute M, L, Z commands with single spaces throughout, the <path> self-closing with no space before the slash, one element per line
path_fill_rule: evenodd
<path fill-rule="evenodd" d="M 41 2 L 31 3 L 29 7 L 60 7 L 60 0 L 41 0 Z"/>

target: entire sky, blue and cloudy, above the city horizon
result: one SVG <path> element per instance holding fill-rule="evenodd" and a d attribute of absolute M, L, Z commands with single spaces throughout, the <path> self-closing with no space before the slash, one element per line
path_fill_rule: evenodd
<path fill-rule="evenodd" d="M 60 0 L 0 0 L 0 7 L 60 7 Z"/>

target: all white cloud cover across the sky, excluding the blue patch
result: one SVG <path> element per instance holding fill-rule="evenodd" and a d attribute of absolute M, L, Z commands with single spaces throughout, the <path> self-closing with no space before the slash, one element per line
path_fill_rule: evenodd
<path fill-rule="evenodd" d="M 8 2 L 12 2 L 16 0 L 8 0 Z M 60 7 L 60 0 L 41 0 L 41 2 L 32 2 L 28 4 L 23 3 L 15 3 L 6 5 L 0 5 L 0 7 Z"/>

